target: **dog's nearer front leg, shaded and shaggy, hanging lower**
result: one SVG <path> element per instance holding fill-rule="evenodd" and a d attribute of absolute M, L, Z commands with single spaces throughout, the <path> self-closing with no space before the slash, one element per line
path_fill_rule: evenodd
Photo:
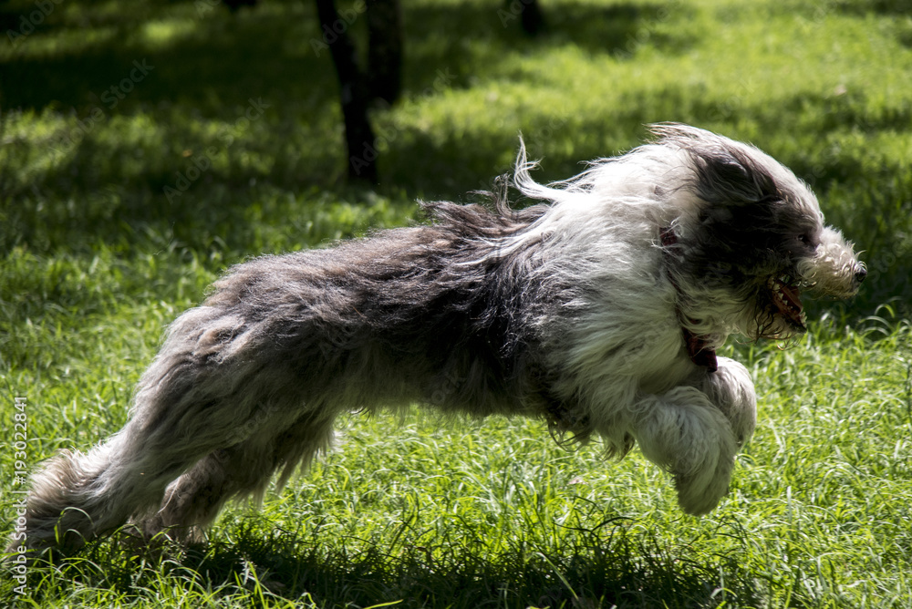
<path fill-rule="evenodd" d="M 681 509 L 705 514 L 728 491 L 738 441 L 729 419 L 696 387 L 637 402 L 633 435 L 647 459 L 674 476 Z"/>

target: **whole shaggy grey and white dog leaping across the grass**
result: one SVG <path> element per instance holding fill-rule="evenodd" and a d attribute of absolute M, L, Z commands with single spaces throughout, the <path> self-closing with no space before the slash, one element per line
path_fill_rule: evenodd
<path fill-rule="evenodd" d="M 73 550 L 133 521 L 199 534 L 332 443 L 337 417 L 423 403 L 543 418 L 558 439 L 634 444 L 712 510 L 751 437 L 732 333 L 806 330 L 802 291 L 865 267 L 814 194 L 749 145 L 683 125 L 550 186 L 520 150 L 513 211 L 425 205 L 428 225 L 239 264 L 168 330 L 130 420 L 32 481 L 27 539 Z M 17 544 L 25 543 L 25 546 Z"/>

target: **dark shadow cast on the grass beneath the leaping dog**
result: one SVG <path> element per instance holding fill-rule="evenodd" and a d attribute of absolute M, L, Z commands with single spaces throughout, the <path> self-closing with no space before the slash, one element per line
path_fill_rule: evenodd
<path fill-rule="evenodd" d="M 179 557 L 138 561 L 108 542 L 93 543 L 83 559 L 57 566 L 64 589 L 44 591 L 66 598 L 67 586 L 116 591 L 127 598 L 155 594 L 155 586 L 219 590 L 248 602 L 259 594 L 320 607 L 632 607 L 715 606 L 737 599 L 757 603 L 754 582 L 736 559 L 691 560 L 681 549 L 635 541 L 623 523 L 608 521 L 604 532 L 570 535 L 559 554 L 516 542 L 496 558 L 474 535 L 453 532 L 435 547 L 386 551 L 352 540 L 333 548 L 273 532 L 242 530 L 231 545 L 219 543 L 181 551 Z M 714 560 L 714 559 L 712 559 Z M 38 577 L 36 570 L 34 577 Z M 164 579 L 162 579 L 162 573 Z M 721 575 L 724 573 L 724 575 Z M 720 577 L 724 584 L 720 584 Z M 724 586 L 724 590 L 722 589 Z M 43 594 L 38 586 L 37 594 Z"/>

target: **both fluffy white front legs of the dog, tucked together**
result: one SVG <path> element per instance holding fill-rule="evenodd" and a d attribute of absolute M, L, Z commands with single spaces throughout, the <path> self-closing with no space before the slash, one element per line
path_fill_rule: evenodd
<path fill-rule="evenodd" d="M 720 358 L 698 387 L 637 401 L 634 437 L 647 459 L 674 476 L 681 509 L 705 514 L 729 488 L 735 453 L 750 438 L 756 397 L 744 366 Z"/>

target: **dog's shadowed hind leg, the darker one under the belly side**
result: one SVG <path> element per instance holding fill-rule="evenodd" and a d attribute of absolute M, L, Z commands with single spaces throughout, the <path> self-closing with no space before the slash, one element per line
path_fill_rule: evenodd
<path fill-rule="evenodd" d="M 289 428 L 269 428 L 227 449 L 213 451 L 165 491 L 161 509 L 140 529 L 147 538 L 166 531 L 181 540 L 199 540 L 226 501 L 254 495 L 259 501 L 275 470 L 284 468 L 279 485 L 300 464 L 326 450 L 334 437 L 331 417 L 311 414 Z"/>

